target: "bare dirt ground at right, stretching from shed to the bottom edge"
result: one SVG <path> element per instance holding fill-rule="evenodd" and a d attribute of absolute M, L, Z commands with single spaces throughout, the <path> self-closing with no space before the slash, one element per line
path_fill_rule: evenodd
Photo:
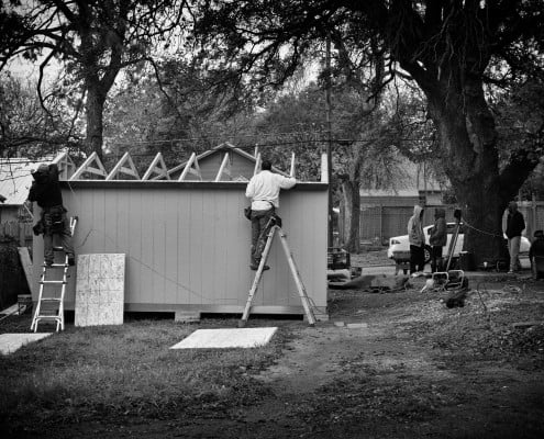
<path fill-rule="evenodd" d="M 313 328 L 277 322 L 296 337 L 276 364 L 247 376 L 264 389 L 258 401 L 20 437 L 544 437 L 544 326 L 512 325 L 544 320 L 544 282 L 481 283 L 452 309 L 445 293 L 414 282 L 398 293 L 330 291 L 331 320 Z"/>

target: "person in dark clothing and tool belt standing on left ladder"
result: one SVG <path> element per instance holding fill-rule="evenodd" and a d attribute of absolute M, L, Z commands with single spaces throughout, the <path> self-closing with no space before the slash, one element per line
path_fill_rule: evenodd
<path fill-rule="evenodd" d="M 71 246 L 71 233 L 67 210 L 63 206 L 63 194 L 58 184 L 57 165 L 40 165 L 35 172 L 32 172 L 34 181 L 29 191 L 29 201 L 35 201 L 42 207 L 42 217 L 34 227 L 37 234 L 44 235 L 44 262 L 51 266 L 54 260 L 53 237 L 60 236 L 62 245 L 68 256 L 68 264 L 75 264 L 74 247 Z"/>

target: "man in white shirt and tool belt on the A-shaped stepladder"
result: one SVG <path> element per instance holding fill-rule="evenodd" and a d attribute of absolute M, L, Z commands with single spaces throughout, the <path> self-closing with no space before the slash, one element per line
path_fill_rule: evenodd
<path fill-rule="evenodd" d="M 252 199 L 252 255 L 249 268 L 255 271 L 258 269 L 264 248 L 264 245 L 259 245 L 259 241 L 266 240 L 268 233 L 266 225 L 276 209 L 279 207 L 279 191 L 281 189 L 291 189 L 297 184 L 297 180 L 293 177 L 273 173 L 269 160 L 263 160 L 260 169 L 259 173 L 252 177 L 245 190 L 245 196 Z M 264 267 L 264 270 L 268 269 L 268 266 Z"/>

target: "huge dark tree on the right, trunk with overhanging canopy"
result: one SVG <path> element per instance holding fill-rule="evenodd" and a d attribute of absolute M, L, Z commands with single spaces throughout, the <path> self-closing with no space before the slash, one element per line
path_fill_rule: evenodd
<path fill-rule="evenodd" d="M 280 83 L 312 42 L 327 37 L 347 80 L 357 79 L 349 71 L 366 66 L 376 74 L 366 82 L 373 90 L 396 77 L 417 83 L 437 133 L 433 154 L 474 227 L 467 249 L 478 260 L 501 257 L 503 209 L 535 167 L 534 151 L 542 145 L 499 159 L 486 85 L 508 87 L 542 75 L 542 0 L 199 3 L 202 43 L 209 54 L 223 56 L 209 67 L 241 85 Z"/>

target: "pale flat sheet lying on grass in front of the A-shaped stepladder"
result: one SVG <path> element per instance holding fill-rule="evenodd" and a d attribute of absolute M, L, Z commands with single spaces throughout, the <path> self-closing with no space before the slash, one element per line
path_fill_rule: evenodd
<path fill-rule="evenodd" d="M 270 341 L 277 327 L 198 329 L 170 349 L 256 348 Z"/>

